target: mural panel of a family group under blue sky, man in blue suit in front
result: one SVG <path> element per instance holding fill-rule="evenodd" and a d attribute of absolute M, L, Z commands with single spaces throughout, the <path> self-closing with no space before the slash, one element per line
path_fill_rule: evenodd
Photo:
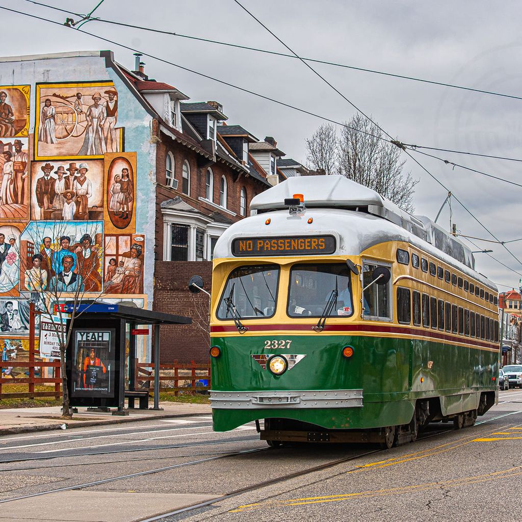
<path fill-rule="evenodd" d="M 31 221 L 20 237 L 21 289 L 101 292 L 102 250 L 103 221 Z"/>

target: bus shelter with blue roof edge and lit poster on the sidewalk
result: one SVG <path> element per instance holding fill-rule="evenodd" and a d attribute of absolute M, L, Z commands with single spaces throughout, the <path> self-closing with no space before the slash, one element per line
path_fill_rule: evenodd
<path fill-rule="evenodd" d="M 69 303 L 64 312 L 72 313 Z M 148 408 L 148 390 L 136 390 L 134 367 L 137 360 L 136 335 L 154 327 L 154 407 L 159 410 L 160 326 L 188 325 L 192 319 L 180 315 L 142 310 L 121 304 L 81 303 L 66 349 L 67 387 L 71 406 L 114 408 L 123 412 L 125 398 L 129 407 L 138 399 L 140 408 Z M 70 320 L 68 322 L 70 326 Z M 128 369 L 125 370 L 128 340 Z M 126 383 L 128 382 L 128 386 Z M 132 406 L 131 406 L 132 405 Z"/>

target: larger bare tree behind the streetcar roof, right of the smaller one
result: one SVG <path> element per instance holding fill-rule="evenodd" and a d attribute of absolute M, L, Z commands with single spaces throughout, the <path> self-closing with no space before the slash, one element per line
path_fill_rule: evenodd
<path fill-rule="evenodd" d="M 413 212 L 413 194 L 419 180 L 414 180 L 411 172 L 403 172 L 405 161 L 400 159 L 400 149 L 381 139 L 381 129 L 360 114 L 346 125 L 339 141 L 341 174 Z"/>

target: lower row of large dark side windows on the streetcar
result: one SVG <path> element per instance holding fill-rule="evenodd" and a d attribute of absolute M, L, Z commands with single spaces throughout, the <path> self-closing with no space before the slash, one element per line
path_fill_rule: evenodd
<path fill-rule="evenodd" d="M 397 320 L 400 324 L 499 342 L 499 322 L 462 306 L 408 288 L 397 288 Z"/>

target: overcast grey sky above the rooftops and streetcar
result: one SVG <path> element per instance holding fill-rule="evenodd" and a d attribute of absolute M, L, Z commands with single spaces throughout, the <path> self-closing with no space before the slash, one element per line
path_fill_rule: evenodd
<path fill-rule="evenodd" d="M 89 13 L 98 2 L 42 0 L 80 15 Z M 522 96 L 519 89 L 522 71 L 517 65 L 522 51 L 519 2 L 495 3 L 494 9 L 491 2 L 482 0 L 458 3 L 241 0 L 241 3 L 300 56 Z M 0 10 L 3 22 L 0 54 L 4 56 L 110 49 L 117 62 L 134 68 L 133 51 L 93 36 L 98 35 L 335 121 L 348 121 L 355 112 L 338 93 L 294 58 L 102 21 L 89 21 L 81 30 L 91 34 L 82 34 L 21 13 L 61 23 L 67 16 L 77 20 L 76 15 L 27 0 L 0 0 L 0 7 L 17 11 Z M 288 53 L 234 0 L 104 0 L 92 16 Z M 305 139 L 324 123 L 321 118 L 152 57 L 144 56 L 142 60 L 150 78 L 174 85 L 191 101 L 219 101 L 229 124 L 240 124 L 259 139 L 273 136 L 287 158 L 306 163 Z M 519 112 L 522 100 L 325 64 L 312 66 L 403 143 L 522 159 Z M 450 152 L 435 154 L 501 180 L 522 183 L 520 162 Z M 495 282 L 500 291 L 518 288 L 522 278 L 522 241 L 504 245 L 509 253 L 501 244 L 484 241 L 495 240 L 481 224 L 500 241 L 521 239 L 522 187 L 452 168 L 418 152 L 412 155 L 445 187 L 404 155 L 405 169 L 419 180 L 414 197 L 416 213 L 434 219 L 447 191 L 451 191 L 477 219 L 452 198 L 450 209 L 448 205 L 444 207 L 438 223 L 449 230 L 451 219 L 461 234 L 479 238 L 472 240 L 477 246 L 469 245 L 472 250 L 493 252 L 475 255 L 477 270 Z"/>

